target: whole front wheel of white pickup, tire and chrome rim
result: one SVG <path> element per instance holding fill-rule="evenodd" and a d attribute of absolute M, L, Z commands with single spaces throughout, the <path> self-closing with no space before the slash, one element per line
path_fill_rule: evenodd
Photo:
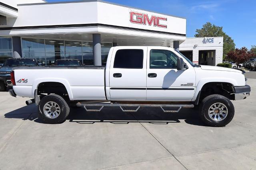
<path fill-rule="evenodd" d="M 232 102 L 221 95 L 210 95 L 202 100 L 200 107 L 202 121 L 212 127 L 226 126 L 234 117 Z"/>

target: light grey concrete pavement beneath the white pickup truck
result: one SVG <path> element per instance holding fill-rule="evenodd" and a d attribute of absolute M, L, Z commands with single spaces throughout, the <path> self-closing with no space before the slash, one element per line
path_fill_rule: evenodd
<path fill-rule="evenodd" d="M 27 98 L 0 92 L 0 170 L 256 169 L 256 79 L 248 84 L 251 95 L 232 101 L 226 127 L 206 127 L 196 109 L 160 108 L 75 108 L 64 123 L 48 125 Z"/>

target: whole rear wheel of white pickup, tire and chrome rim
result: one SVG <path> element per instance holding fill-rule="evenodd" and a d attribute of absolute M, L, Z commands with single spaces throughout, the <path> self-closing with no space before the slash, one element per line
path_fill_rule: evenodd
<path fill-rule="evenodd" d="M 70 108 L 59 95 L 51 94 L 42 98 L 38 104 L 39 117 L 45 123 L 62 123 L 68 117 Z"/>

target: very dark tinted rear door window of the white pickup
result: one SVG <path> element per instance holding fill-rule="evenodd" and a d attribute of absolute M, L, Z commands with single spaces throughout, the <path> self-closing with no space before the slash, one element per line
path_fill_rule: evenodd
<path fill-rule="evenodd" d="M 123 49 L 116 51 L 114 68 L 143 68 L 143 50 Z"/>

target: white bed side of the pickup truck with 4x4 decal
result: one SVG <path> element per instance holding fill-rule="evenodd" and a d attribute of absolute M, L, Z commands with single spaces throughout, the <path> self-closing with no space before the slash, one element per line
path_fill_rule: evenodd
<path fill-rule="evenodd" d="M 14 72 L 18 96 L 33 98 L 38 84 L 53 81 L 66 87 L 70 100 L 106 100 L 104 66 L 39 66 Z M 27 82 L 17 82 L 20 79 Z"/>

